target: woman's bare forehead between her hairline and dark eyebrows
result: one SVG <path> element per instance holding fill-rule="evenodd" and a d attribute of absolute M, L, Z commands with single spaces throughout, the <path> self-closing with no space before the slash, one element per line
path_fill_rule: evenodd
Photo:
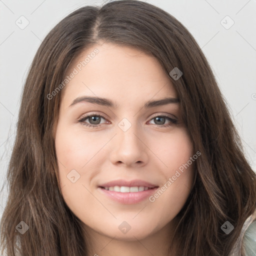
<path fill-rule="evenodd" d="M 111 98 L 117 105 L 132 100 L 177 97 L 170 77 L 158 60 L 129 46 L 94 44 L 70 64 L 66 76 L 72 78 L 63 91 L 63 101 L 78 96 Z"/>

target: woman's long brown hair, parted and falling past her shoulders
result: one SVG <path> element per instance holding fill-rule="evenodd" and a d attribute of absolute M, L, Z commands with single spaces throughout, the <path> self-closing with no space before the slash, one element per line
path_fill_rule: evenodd
<path fill-rule="evenodd" d="M 8 165 L 2 252 L 87 255 L 81 221 L 65 204 L 57 180 L 53 133 L 62 91 L 52 99 L 47 95 L 63 81 L 72 60 L 99 40 L 143 50 L 159 61 L 167 75 L 174 67 L 182 71 L 177 80 L 169 77 L 194 150 L 201 155 L 195 162 L 194 185 L 177 215 L 176 255 L 226 256 L 256 208 L 256 175 L 192 35 L 169 13 L 137 0 L 81 7 L 62 19 L 38 48 L 23 88 Z M 29 227 L 23 234 L 16 228 L 20 221 Z M 234 226 L 229 234 L 220 228 L 225 221 Z"/>

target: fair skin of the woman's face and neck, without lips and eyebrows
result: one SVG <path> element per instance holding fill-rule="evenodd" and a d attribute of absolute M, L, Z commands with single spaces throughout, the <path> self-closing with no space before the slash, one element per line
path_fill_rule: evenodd
<path fill-rule="evenodd" d="M 55 130 L 61 193 L 84 224 L 89 255 L 166 256 L 175 216 L 192 187 L 193 163 L 153 202 L 146 198 L 135 204 L 118 203 L 104 195 L 98 185 L 122 178 L 142 179 L 161 187 L 189 160 L 193 146 L 180 117 L 179 103 L 143 108 L 148 100 L 177 98 L 177 93 L 156 58 L 111 43 L 98 43 L 83 51 L 67 75 L 95 48 L 99 52 L 61 91 Z M 84 95 L 111 99 L 117 108 L 90 102 L 69 106 Z M 96 117 L 98 122 L 87 118 L 83 123 L 100 122 L 100 126 L 78 122 L 91 113 L 103 118 Z M 167 118 L 157 122 L 155 117 L 162 114 L 177 123 Z M 131 124 L 125 132 L 118 126 L 123 118 Z M 72 169 L 80 175 L 74 183 L 67 178 Z M 131 227 L 126 233 L 118 228 L 123 221 Z M 169 255 L 174 255 L 173 250 Z"/>

